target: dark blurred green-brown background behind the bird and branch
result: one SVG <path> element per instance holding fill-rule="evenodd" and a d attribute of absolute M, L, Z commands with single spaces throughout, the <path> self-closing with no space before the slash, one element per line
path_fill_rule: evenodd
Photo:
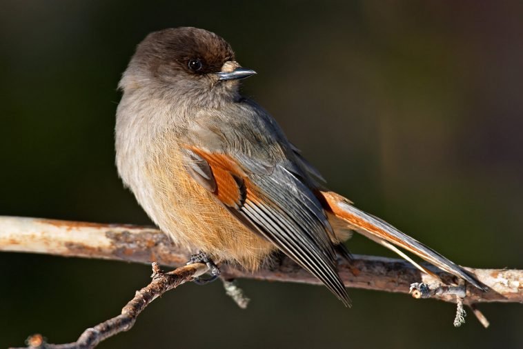
<path fill-rule="evenodd" d="M 148 32 L 197 26 L 258 72 L 244 92 L 353 199 L 457 263 L 523 268 L 521 1 L 1 1 L 0 215 L 149 223 L 114 165 L 116 90 Z M 355 237 L 357 254 L 390 255 Z M 0 254 L 0 348 L 119 313 L 149 266 Z M 523 309 L 242 280 L 185 285 L 100 348 L 522 348 Z"/>

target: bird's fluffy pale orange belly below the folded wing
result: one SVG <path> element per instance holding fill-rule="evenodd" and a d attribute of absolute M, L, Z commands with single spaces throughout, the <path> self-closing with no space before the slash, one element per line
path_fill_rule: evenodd
<path fill-rule="evenodd" d="M 213 193 L 188 175 L 179 151 L 152 159 L 143 172 L 144 183 L 150 187 L 148 195 L 144 202 L 138 200 L 175 242 L 193 252 L 206 252 L 215 261 L 237 262 L 250 270 L 258 268 L 275 250 L 272 243 L 246 228 Z"/>

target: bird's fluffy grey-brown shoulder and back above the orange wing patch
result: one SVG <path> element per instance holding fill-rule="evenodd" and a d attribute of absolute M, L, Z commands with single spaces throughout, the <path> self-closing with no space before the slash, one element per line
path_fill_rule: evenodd
<path fill-rule="evenodd" d="M 292 173 L 309 188 L 321 188 L 323 177 L 288 141 L 277 121 L 257 103 L 242 99 L 219 109 L 201 109 L 184 134 L 187 148 L 225 154 L 253 175 Z"/>

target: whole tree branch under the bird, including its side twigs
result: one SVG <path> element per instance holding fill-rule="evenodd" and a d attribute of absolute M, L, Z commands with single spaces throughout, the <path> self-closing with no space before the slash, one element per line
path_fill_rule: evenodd
<path fill-rule="evenodd" d="M 82 223 L 0 216 L 0 251 L 34 252 L 63 257 L 115 259 L 139 263 L 152 263 L 152 281 L 136 292 L 135 297 L 122 309 L 121 315 L 85 330 L 79 339 L 68 344 L 48 344 L 41 335 L 28 338 L 28 348 L 73 349 L 95 348 L 97 344 L 119 332 L 130 330 L 137 316 L 148 304 L 172 288 L 176 288 L 203 275 L 208 266 L 202 263 L 181 266 L 168 273 L 159 271 L 158 263 L 165 266 L 184 265 L 190 253 L 175 246 L 166 235 L 155 228 L 124 224 Z M 251 274 L 233 266 L 220 266 L 224 286 L 239 306 L 244 308 L 248 299 L 235 283 L 237 278 L 272 281 L 289 281 L 320 284 L 310 273 L 286 257 L 277 263 Z M 373 256 L 355 256 L 352 263 L 339 261 L 338 271 L 347 287 L 412 293 L 415 298 L 434 298 L 457 303 L 454 325 L 464 323 L 464 305 L 485 326 L 489 326 L 475 303 L 522 302 L 523 271 L 474 269 L 473 272 L 490 290 L 482 292 L 464 281 L 455 280 L 441 270 L 428 266 L 437 277 L 421 273 L 410 263 L 400 259 Z M 422 282 L 417 282 L 422 281 Z M 457 286 L 448 284 L 457 283 Z"/>

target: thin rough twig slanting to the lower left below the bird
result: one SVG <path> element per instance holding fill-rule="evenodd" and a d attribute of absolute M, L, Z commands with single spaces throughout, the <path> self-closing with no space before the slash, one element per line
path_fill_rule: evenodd
<path fill-rule="evenodd" d="M 157 263 L 152 263 L 152 281 L 148 286 L 136 292 L 135 297 L 124 306 L 121 315 L 99 323 L 97 326 L 83 331 L 77 341 L 67 344 L 49 344 L 41 335 L 33 335 L 26 341 L 32 349 L 90 349 L 95 348 L 101 341 L 108 339 L 120 332 L 128 331 L 135 324 L 142 310 L 163 295 L 168 290 L 191 281 L 207 272 L 208 266 L 203 263 L 190 264 L 163 273 Z"/>

